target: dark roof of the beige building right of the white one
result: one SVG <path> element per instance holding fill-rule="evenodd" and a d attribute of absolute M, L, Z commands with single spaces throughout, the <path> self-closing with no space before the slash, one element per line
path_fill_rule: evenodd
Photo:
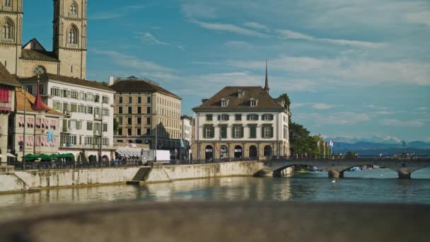
<path fill-rule="evenodd" d="M 117 92 L 123 93 L 163 93 L 174 98 L 182 99 L 174 93 L 165 90 L 161 86 L 157 86 L 149 81 L 144 80 L 122 80 L 110 86 Z"/>

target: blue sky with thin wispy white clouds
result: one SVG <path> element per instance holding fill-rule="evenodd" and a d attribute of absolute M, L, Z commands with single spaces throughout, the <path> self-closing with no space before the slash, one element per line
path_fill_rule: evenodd
<path fill-rule="evenodd" d="M 87 79 L 138 76 L 191 115 L 223 86 L 288 93 L 325 137 L 430 142 L 430 1 L 88 1 Z M 52 49 L 52 1 L 24 1 L 23 42 Z"/>

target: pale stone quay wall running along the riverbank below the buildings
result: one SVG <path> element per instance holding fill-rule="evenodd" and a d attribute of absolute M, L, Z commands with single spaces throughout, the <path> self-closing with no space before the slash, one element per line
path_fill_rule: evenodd
<path fill-rule="evenodd" d="M 153 166 L 143 183 L 198 178 L 254 175 L 263 167 L 257 161 L 182 166 Z M 132 181 L 142 167 L 88 168 L 0 173 L 0 193 L 37 191 L 90 185 L 112 185 Z"/>

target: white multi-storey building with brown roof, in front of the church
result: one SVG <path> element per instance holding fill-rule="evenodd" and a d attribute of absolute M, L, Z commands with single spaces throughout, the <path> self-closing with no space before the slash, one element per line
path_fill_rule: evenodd
<path fill-rule="evenodd" d="M 85 161 L 100 155 L 101 146 L 102 156 L 112 159 L 115 91 L 96 81 L 54 74 L 20 81 L 25 91 L 34 94 L 37 79 L 43 102 L 65 115 L 59 123 L 59 153 L 74 154 L 77 160 Z"/>

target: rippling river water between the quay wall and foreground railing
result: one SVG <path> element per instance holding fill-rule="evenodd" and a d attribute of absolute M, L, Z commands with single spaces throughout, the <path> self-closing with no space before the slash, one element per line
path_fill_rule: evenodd
<path fill-rule="evenodd" d="M 0 209 L 45 203 L 120 201 L 279 200 L 430 204 L 430 168 L 400 180 L 388 169 L 345 172 L 327 178 L 326 172 L 295 173 L 291 178 L 213 178 L 149 185 L 110 185 L 42 190 L 0 195 Z"/>

